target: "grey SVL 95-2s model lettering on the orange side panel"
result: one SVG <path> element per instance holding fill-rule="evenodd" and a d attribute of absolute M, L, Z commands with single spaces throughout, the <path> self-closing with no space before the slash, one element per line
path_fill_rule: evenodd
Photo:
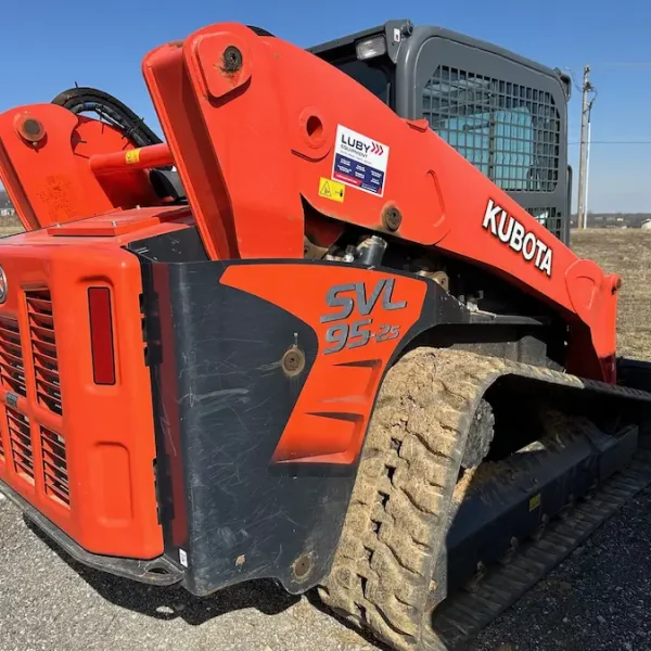
<path fill-rule="evenodd" d="M 323 315 L 321 323 L 333 322 L 326 331 L 326 341 L 331 346 L 323 349 L 323 354 L 339 353 L 343 348 L 357 348 L 366 346 L 371 339 L 378 343 L 394 340 L 400 334 L 400 327 L 392 323 L 375 326 L 372 311 L 380 297 L 383 310 L 392 311 L 407 307 L 406 301 L 392 299 L 395 280 L 385 278 L 378 280 L 370 295 L 367 291 L 368 282 L 352 282 L 330 288 L 326 295 L 328 307 L 337 308 L 337 311 Z M 360 317 L 352 323 L 342 323 L 354 311 Z"/>

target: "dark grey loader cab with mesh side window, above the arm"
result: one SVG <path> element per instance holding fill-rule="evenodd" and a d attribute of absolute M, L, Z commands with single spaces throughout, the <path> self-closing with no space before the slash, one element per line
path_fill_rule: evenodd
<path fill-rule="evenodd" d="M 492 43 L 391 21 L 309 51 L 436 133 L 563 242 L 570 78 Z"/>

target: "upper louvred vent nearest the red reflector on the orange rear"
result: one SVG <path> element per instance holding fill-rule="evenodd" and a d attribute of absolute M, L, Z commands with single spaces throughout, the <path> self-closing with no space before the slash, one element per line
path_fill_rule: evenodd
<path fill-rule="evenodd" d="M 54 413 L 62 413 L 59 360 L 50 290 L 25 292 L 29 317 L 29 337 L 38 401 Z"/>

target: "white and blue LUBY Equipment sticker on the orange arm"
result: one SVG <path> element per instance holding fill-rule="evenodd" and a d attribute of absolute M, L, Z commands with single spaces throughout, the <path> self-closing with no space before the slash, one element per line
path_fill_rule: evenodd
<path fill-rule="evenodd" d="M 352 129 L 337 125 L 332 178 L 376 194 L 384 195 L 388 146 Z"/>

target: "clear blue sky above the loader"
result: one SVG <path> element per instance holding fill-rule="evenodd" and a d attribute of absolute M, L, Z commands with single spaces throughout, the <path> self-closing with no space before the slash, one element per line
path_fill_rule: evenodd
<path fill-rule="evenodd" d="M 583 65 L 589 63 L 598 91 L 589 208 L 651 212 L 651 2 L 647 0 L 132 0 L 122 5 L 31 0 L 28 5 L 2 4 L 0 111 L 49 102 L 77 81 L 116 95 L 156 129 L 140 73 L 142 56 L 158 44 L 224 21 L 254 24 L 308 47 L 386 20 L 411 18 L 498 43 L 552 67 L 570 68 L 577 82 Z M 575 88 L 570 104 L 575 180 L 579 94 Z M 636 144 L 613 144 L 630 141 Z"/>

